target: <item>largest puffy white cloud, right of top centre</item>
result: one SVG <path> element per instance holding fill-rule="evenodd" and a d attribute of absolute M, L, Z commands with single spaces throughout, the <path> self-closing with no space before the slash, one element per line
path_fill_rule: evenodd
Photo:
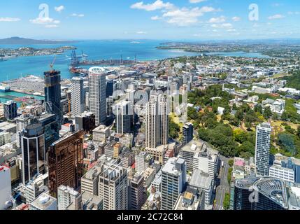
<path fill-rule="evenodd" d="M 203 6 L 201 8 L 178 8 L 175 10 L 169 10 L 162 16 L 166 18 L 168 23 L 178 26 L 188 26 L 199 22 L 198 18 L 205 13 L 217 11 L 213 7 Z"/>

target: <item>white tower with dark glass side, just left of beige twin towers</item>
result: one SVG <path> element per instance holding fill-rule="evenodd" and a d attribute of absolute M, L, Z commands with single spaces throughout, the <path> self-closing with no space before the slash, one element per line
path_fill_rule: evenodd
<path fill-rule="evenodd" d="M 134 119 L 134 106 L 132 102 L 123 101 L 115 104 L 115 122 L 118 134 L 131 132 Z"/>

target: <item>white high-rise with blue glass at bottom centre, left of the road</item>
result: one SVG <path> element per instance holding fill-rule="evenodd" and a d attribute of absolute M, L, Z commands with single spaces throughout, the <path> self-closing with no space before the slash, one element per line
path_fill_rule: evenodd
<path fill-rule="evenodd" d="M 172 210 L 185 188 L 187 164 L 182 158 L 171 158 L 162 168 L 162 210 Z"/>

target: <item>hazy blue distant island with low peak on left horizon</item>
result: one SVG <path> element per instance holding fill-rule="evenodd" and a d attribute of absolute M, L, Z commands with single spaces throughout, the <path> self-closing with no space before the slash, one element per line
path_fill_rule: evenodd
<path fill-rule="evenodd" d="M 29 38 L 21 38 L 17 36 L 0 39 L 0 44 L 11 44 L 11 45 L 58 44 L 58 43 L 75 43 L 75 41 L 34 40 Z"/>

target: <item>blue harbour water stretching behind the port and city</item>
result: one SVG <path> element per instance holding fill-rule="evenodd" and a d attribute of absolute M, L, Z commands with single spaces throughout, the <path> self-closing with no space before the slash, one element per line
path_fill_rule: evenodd
<path fill-rule="evenodd" d="M 197 52 L 185 52 L 181 50 L 159 50 L 156 47 L 165 41 L 131 41 L 131 40 L 111 40 L 111 41 L 80 41 L 70 44 L 57 45 L 0 45 L 0 48 L 57 48 L 64 45 L 73 45 L 77 48 L 77 55 L 82 51 L 88 55 L 87 59 L 134 59 L 135 55 L 138 61 L 150 61 L 180 56 L 200 55 Z M 225 56 L 243 56 L 243 57 L 265 57 L 264 55 L 247 54 L 245 52 L 225 52 L 220 55 Z M 62 78 L 71 78 L 69 64 L 71 62 L 71 50 L 67 50 L 62 55 L 57 55 L 54 68 L 62 72 Z M 20 78 L 21 76 L 34 75 L 43 76 L 44 71 L 50 69 L 55 55 L 16 57 L 8 61 L 0 62 L 0 82 Z"/>

